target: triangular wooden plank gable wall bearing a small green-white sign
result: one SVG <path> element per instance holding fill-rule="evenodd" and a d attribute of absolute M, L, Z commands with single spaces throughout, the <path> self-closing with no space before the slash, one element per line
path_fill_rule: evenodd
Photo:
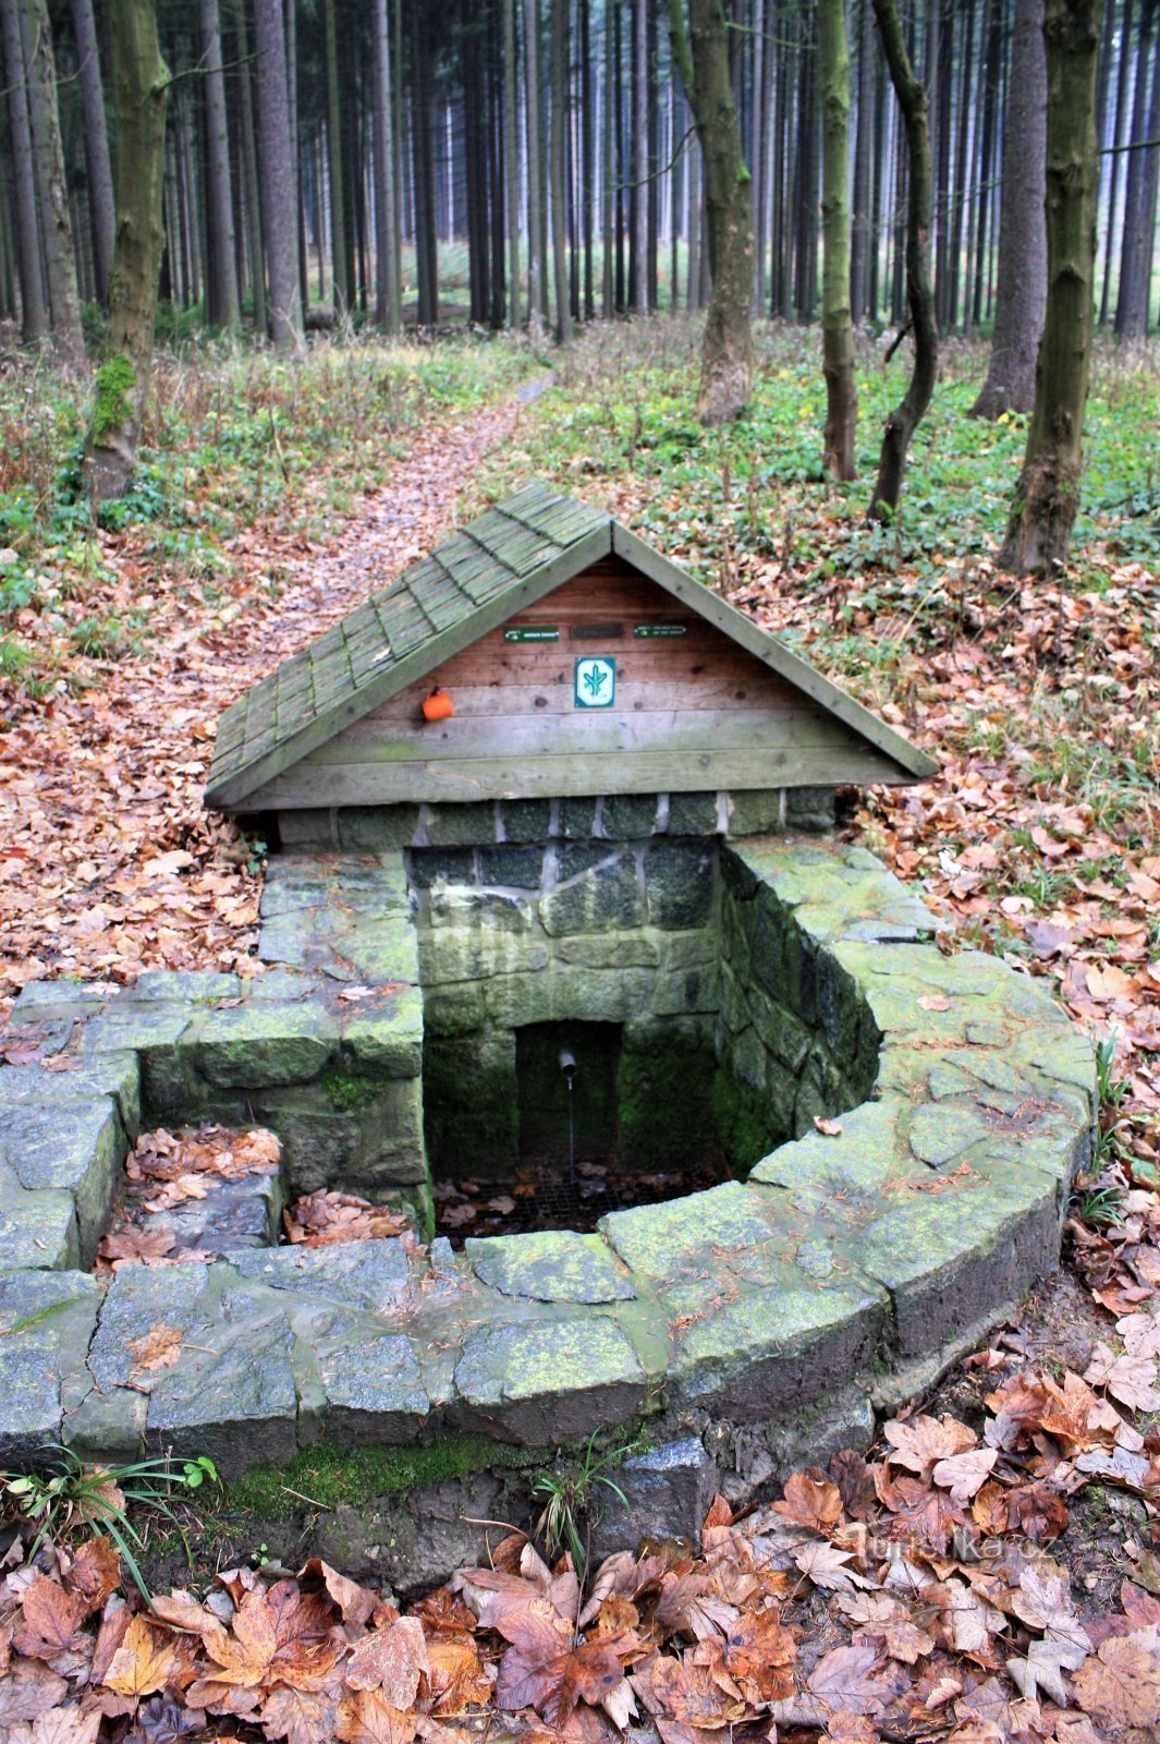
<path fill-rule="evenodd" d="M 637 638 L 636 624 L 685 635 Z M 505 628 L 557 628 L 505 642 Z M 596 626 L 618 633 L 592 635 Z M 587 631 L 587 633 L 585 633 Z M 575 661 L 617 661 L 611 708 L 573 705 Z M 439 685 L 449 720 L 425 722 Z M 834 785 L 894 766 L 618 556 L 564 582 L 272 781 L 261 806 Z"/>

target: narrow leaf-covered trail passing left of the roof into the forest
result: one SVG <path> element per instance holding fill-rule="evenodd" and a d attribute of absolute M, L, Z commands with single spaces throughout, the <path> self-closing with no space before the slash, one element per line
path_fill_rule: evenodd
<path fill-rule="evenodd" d="M 247 528 L 228 548 L 226 598 L 195 619 L 172 577 L 129 551 L 115 558 L 125 596 L 150 596 L 150 642 L 98 668 L 91 689 L 21 706 L 0 736 L 0 1015 L 40 977 L 246 964 L 251 849 L 202 811 L 218 717 L 449 528 L 523 403 L 514 394 L 420 431 L 324 546 L 273 523 Z"/>

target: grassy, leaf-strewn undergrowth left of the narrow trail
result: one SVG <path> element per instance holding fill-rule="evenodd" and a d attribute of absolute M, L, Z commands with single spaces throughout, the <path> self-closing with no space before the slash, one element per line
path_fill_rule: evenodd
<path fill-rule="evenodd" d="M 70 656 L 117 659 L 148 638 L 152 602 L 138 612 L 118 598 L 124 551 L 150 591 L 176 589 L 192 614 L 212 616 L 233 576 L 232 544 L 256 521 L 324 534 L 333 513 L 380 483 L 434 420 L 543 368 L 529 347 L 472 335 L 312 340 L 301 359 L 199 335 L 162 352 L 131 487 L 94 511 L 82 478 L 92 384 L 33 356 L 9 363 L 0 375 L 0 675 L 31 694 Z M 124 385 L 105 380 L 110 368 L 96 377 L 105 412 Z"/>

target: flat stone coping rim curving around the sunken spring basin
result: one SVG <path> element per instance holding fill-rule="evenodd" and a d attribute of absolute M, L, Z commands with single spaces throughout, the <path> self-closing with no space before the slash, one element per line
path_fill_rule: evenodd
<path fill-rule="evenodd" d="M 392 856 L 368 863 L 374 903 L 361 910 L 354 889 L 343 907 L 368 940 L 354 973 L 383 991 L 371 1012 L 338 1008 L 317 964 L 273 970 L 246 1003 L 230 977 L 212 992 L 206 977 L 143 977 L 111 1001 L 28 989 L 16 1020 L 66 1069 L 0 1071 L 0 1458 L 61 1439 L 105 1456 L 172 1444 L 233 1474 L 320 1435 L 550 1448 L 651 1414 L 662 1437 L 693 1430 L 756 1481 L 794 1446 L 866 1439 L 871 1400 L 932 1378 L 1055 1263 L 1090 1146 L 1090 1048 L 1003 963 L 942 956 L 928 912 L 869 853 L 768 839 L 725 856 L 733 970 L 740 952 L 742 980 L 792 977 L 836 1050 L 874 1036 L 873 1097 L 744 1184 L 615 1212 L 590 1236 L 253 1249 L 124 1268 L 108 1289 L 75 1270 L 139 1127 L 141 1074 L 153 1107 L 190 1090 L 190 1024 L 206 1081 L 258 1113 L 300 1095 L 277 1048 L 258 1048 L 273 1083 L 237 1078 L 261 1024 L 289 1010 L 280 1039 L 300 1074 L 359 1048 L 415 1118 L 422 1006 Z M 789 954 L 765 949 L 773 923 Z M 181 1332 L 179 1359 L 141 1374 L 132 1341 L 158 1324 Z"/>

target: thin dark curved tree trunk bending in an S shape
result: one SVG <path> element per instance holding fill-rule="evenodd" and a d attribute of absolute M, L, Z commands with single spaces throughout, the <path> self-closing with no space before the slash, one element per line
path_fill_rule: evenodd
<path fill-rule="evenodd" d="M 939 373 L 939 328 L 934 316 L 930 288 L 930 208 L 934 195 L 934 164 L 930 159 L 930 129 L 927 126 L 927 91 L 914 77 L 906 52 L 902 19 L 897 0 L 874 0 L 874 17 L 890 68 L 902 120 L 906 126 L 906 153 L 909 187 L 906 199 L 906 302 L 914 330 L 914 368 L 906 394 L 887 419 L 878 457 L 878 480 L 867 509 L 871 521 L 892 520 L 911 438 L 918 427 Z"/>

